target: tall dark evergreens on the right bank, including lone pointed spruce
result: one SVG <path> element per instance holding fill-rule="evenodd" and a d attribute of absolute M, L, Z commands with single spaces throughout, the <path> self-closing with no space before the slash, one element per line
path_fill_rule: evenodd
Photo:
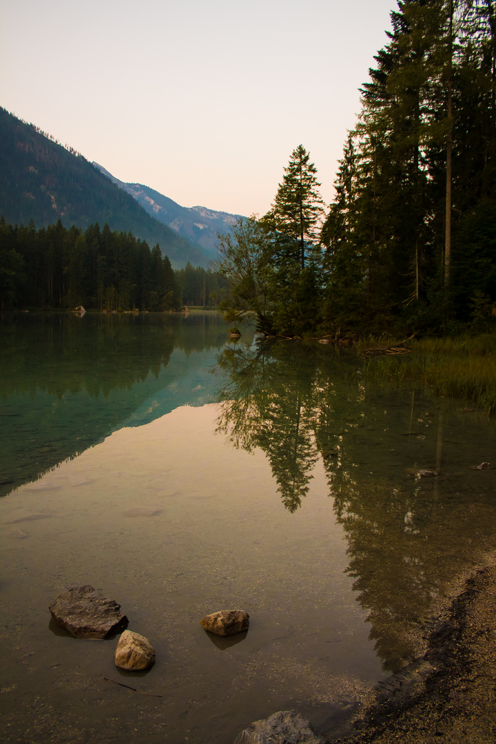
<path fill-rule="evenodd" d="M 271 210 L 222 237 L 235 320 L 266 333 L 453 332 L 496 303 L 494 0 L 405 0 L 362 92 L 327 214 L 292 153 Z"/>

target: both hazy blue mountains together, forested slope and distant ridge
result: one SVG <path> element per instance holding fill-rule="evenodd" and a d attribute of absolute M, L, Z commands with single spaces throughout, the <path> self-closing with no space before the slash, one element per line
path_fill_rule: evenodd
<path fill-rule="evenodd" d="M 149 187 L 124 184 L 74 149 L 63 147 L 33 124 L 0 108 L 0 216 L 13 225 L 36 228 L 60 219 L 83 231 L 107 222 L 132 232 L 150 247 L 157 243 L 173 268 L 207 267 L 216 254 L 218 232 L 236 215 L 203 207 L 184 208 Z"/>

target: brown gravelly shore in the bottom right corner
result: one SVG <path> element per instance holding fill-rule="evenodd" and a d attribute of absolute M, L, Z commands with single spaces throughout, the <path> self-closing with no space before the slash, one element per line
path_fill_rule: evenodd
<path fill-rule="evenodd" d="M 439 616 L 428 650 L 379 683 L 332 743 L 489 744 L 496 738 L 496 557 Z"/>

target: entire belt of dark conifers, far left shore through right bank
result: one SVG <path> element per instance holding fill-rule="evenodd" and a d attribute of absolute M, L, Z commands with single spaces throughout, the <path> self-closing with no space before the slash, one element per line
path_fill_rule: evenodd
<path fill-rule="evenodd" d="M 496 316 L 494 0 L 405 0 L 361 88 L 335 199 L 296 147 L 263 217 L 173 272 L 130 233 L 0 224 L 3 309 L 220 308 L 282 336 L 457 333 Z"/>

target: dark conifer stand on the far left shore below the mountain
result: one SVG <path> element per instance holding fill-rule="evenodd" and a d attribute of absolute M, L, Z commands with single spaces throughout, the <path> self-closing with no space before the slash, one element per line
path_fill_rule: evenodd
<path fill-rule="evenodd" d="M 131 233 L 0 219 L 0 307 L 178 310 L 170 260 Z"/>

